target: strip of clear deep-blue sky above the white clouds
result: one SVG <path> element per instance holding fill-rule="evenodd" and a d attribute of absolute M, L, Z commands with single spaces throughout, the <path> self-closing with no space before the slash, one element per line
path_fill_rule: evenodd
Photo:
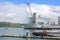
<path fill-rule="evenodd" d="M 60 5 L 60 0 L 0 0 L 0 2 L 13 2 L 15 4 L 26 4 L 36 3 L 36 4 L 47 4 L 47 5 Z"/>

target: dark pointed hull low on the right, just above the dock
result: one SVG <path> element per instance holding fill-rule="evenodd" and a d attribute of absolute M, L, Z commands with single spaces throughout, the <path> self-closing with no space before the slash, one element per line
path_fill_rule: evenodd
<path fill-rule="evenodd" d="M 32 33 L 35 36 L 59 36 L 60 37 L 60 32 L 33 32 Z"/>

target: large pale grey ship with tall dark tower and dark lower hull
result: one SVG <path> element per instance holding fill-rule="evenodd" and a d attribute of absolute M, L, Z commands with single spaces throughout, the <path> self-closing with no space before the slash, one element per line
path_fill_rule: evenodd
<path fill-rule="evenodd" d="M 32 14 L 32 17 L 30 18 L 30 21 L 26 25 L 25 29 L 30 30 L 31 34 L 35 36 L 60 36 L 60 30 L 58 30 L 60 29 L 60 25 L 55 24 L 55 22 L 50 22 L 47 19 L 41 18 L 40 16 L 39 18 L 36 18 L 36 13 Z"/>

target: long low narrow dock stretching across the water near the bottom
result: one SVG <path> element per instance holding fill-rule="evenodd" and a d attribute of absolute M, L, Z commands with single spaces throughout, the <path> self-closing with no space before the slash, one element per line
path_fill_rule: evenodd
<path fill-rule="evenodd" d="M 60 37 L 41 37 L 41 36 L 30 36 L 30 37 L 27 37 L 27 36 L 9 36 L 9 35 L 5 35 L 5 36 L 0 36 L 0 37 L 14 37 L 14 38 L 35 38 L 35 39 L 60 39 Z"/>

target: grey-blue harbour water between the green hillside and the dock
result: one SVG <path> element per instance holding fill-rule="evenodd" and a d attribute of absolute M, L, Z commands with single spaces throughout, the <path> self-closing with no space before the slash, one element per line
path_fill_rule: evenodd
<path fill-rule="evenodd" d="M 7 27 L 0 27 L 0 35 L 3 34 L 15 34 L 15 35 L 25 35 L 26 31 L 23 28 L 7 28 Z"/>

